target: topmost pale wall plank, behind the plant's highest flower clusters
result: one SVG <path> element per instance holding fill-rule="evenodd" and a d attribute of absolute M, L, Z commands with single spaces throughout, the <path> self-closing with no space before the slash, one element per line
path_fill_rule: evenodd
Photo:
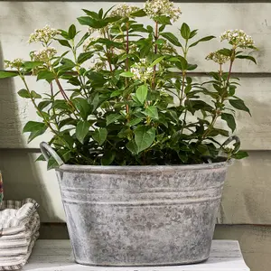
<path fill-rule="evenodd" d="M 39 49 L 36 44 L 27 44 L 33 29 L 43 27 L 46 23 L 54 28 L 68 28 L 70 23 L 76 23 L 76 18 L 83 14 L 81 8 L 107 9 L 115 4 L 117 2 L 114 4 L 111 2 L 54 2 L 53 4 L 51 2 L 1 2 L 0 63 L 3 59 L 27 58 L 29 51 Z M 143 6 L 143 3 L 131 3 L 131 5 Z M 173 27 L 169 27 L 170 32 L 179 33 L 178 28 L 182 22 L 189 23 L 194 29 L 199 28 L 201 37 L 210 34 L 220 37 L 220 33 L 225 30 L 243 29 L 251 34 L 257 43 L 259 51 L 254 55 L 257 57 L 258 65 L 239 61 L 234 71 L 271 71 L 269 65 L 271 46 L 268 39 L 271 31 L 271 4 L 178 3 L 176 5 L 182 8 L 182 18 Z M 82 26 L 79 28 L 83 29 Z M 221 44 L 219 38 L 208 44 L 202 43 L 198 49 L 192 49 L 191 61 L 199 63 L 199 71 L 217 69 L 210 61 L 205 61 L 205 56 L 225 44 Z"/>

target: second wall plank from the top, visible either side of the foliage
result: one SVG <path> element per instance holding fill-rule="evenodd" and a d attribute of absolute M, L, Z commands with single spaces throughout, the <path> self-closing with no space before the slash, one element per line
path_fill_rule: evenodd
<path fill-rule="evenodd" d="M 46 82 L 36 82 L 33 77 L 27 78 L 31 89 L 39 93 L 49 93 Z M 206 78 L 208 79 L 208 78 Z M 252 117 L 246 112 L 238 111 L 238 129 L 236 134 L 242 140 L 242 148 L 247 150 L 271 149 L 271 78 L 242 78 L 238 94 L 244 98 L 251 109 Z M 49 141 L 50 133 L 36 138 L 27 145 L 27 135 L 22 134 L 24 124 L 29 120 L 39 120 L 32 103 L 17 95 L 23 88 L 20 79 L 0 81 L 0 148 L 38 148 L 42 140 Z M 225 125 L 225 122 L 222 121 Z"/>

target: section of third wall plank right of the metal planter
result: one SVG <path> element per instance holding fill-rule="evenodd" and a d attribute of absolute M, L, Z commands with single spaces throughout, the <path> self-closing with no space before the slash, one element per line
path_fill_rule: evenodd
<path fill-rule="evenodd" d="M 271 225 L 271 153 L 249 154 L 229 168 L 220 204 L 222 224 Z"/>

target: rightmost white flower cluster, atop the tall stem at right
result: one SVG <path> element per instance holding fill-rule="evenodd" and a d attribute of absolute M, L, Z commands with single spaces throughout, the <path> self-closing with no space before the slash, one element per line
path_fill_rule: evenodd
<path fill-rule="evenodd" d="M 255 42 L 243 30 L 228 30 L 220 36 L 221 42 L 227 40 L 231 45 L 239 48 L 254 47 Z"/>

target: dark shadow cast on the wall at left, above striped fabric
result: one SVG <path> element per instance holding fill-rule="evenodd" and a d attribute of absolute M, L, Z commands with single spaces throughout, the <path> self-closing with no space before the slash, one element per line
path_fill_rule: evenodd
<path fill-rule="evenodd" d="M 0 70 L 4 70 L 1 43 Z M 40 151 L 23 147 L 20 122 L 23 112 L 19 108 L 19 103 L 23 100 L 16 98 L 18 89 L 15 87 L 15 80 L 0 80 L 0 170 L 4 179 L 4 199 L 33 198 L 41 205 L 43 221 L 49 218 L 51 221 L 60 221 L 54 216 L 48 188 L 42 182 L 41 170 L 34 163 Z"/>

